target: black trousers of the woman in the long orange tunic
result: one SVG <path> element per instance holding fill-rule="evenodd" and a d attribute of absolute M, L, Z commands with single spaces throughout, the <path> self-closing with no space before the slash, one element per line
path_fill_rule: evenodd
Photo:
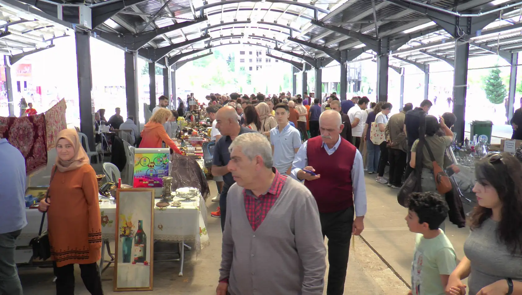
<path fill-rule="evenodd" d="M 53 263 L 56 276 L 56 295 L 74 295 L 74 264 L 57 267 Z M 85 288 L 92 295 L 103 295 L 98 264 L 80 264 L 80 276 Z"/>

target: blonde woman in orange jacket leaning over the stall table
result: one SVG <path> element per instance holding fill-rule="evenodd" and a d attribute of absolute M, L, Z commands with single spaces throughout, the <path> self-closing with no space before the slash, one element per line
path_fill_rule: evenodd
<path fill-rule="evenodd" d="M 169 137 L 165 131 L 163 124 L 169 121 L 172 117 L 172 112 L 168 109 L 159 109 L 154 113 L 143 131 L 141 131 L 140 148 L 161 148 L 161 141 L 164 141 L 174 152 L 183 155 L 181 150 L 176 147 L 174 141 Z"/>

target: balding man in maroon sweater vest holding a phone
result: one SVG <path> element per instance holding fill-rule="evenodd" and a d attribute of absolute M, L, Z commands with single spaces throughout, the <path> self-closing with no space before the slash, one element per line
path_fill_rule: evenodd
<path fill-rule="evenodd" d="M 323 237 L 328 238 L 327 295 L 344 292 L 351 234 L 361 234 L 366 214 L 362 156 L 339 136 L 343 127 L 338 112 L 324 111 L 319 117 L 321 137 L 305 141 L 292 164 L 292 177 L 304 181 L 315 198 Z"/>

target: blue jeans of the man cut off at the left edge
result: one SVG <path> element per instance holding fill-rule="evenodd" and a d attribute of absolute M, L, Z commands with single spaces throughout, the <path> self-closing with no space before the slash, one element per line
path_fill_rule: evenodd
<path fill-rule="evenodd" d="M 15 263 L 15 241 L 21 232 L 20 229 L 0 234 L 0 294 L 23 294 Z"/>

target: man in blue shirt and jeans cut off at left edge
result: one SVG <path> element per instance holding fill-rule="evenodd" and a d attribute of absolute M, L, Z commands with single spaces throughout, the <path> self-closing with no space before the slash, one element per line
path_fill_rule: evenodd
<path fill-rule="evenodd" d="M 26 161 L 5 138 L 0 138 L 0 159 L 0 293 L 22 295 L 15 264 L 15 241 L 27 225 Z"/>

